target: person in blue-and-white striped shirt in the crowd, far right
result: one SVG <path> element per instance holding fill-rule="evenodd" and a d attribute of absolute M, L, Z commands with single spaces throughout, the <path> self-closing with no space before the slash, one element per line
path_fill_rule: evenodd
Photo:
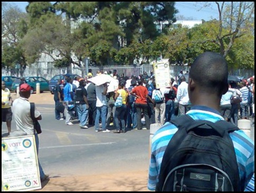
<path fill-rule="evenodd" d="M 246 86 L 246 82 L 242 81 L 242 88 L 240 92 L 242 93 L 242 101 L 240 103 L 241 117 L 242 119 L 248 119 L 248 97 L 249 97 L 249 89 Z"/>

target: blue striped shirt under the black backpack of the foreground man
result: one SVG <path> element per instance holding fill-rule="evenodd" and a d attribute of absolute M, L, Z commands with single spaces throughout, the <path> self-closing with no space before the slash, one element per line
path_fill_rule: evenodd
<path fill-rule="evenodd" d="M 204 106 L 194 106 L 186 114 L 194 120 L 208 120 L 213 123 L 218 120 L 224 120 L 217 110 Z M 164 151 L 176 131 L 178 131 L 178 128 L 175 125 L 165 124 L 156 131 L 152 138 L 149 180 L 147 184 L 149 190 L 155 190 Z M 246 187 L 254 173 L 254 143 L 242 130 L 234 131 L 230 134 L 230 137 L 237 156 L 241 184 Z"/>

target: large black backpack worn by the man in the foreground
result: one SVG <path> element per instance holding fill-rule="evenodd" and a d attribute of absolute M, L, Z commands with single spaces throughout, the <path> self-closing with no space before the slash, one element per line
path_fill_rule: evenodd
<path fill-rule="evenodd" d="M 229 136 L 239 130 L 237 126 L 194 120 L 189 115 L 171 123 L 179 130 L 166 147 L 156 191 L 241 191 Z"/>

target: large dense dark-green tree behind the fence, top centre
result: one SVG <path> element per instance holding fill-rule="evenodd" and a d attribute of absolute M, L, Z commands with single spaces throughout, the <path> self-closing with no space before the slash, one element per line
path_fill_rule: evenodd
<path fill-rule="evenodd" d="M 62 18 L 66 26 L 66 30 L 61 32 L 66 33 L 63 39 L 66 47 L 65 44 L 48 45 L 50 40 L 54 40 L 50 35 L 43 39 L 44 52 L 49 53 L 49 49 L 55 48 L 70 64 L 75 63 L 71 57 L 74 54 L 78 60 L 90 57 L 94 63 L 104 65 L 114 64 L 119 50 L 133 42 L 154 40 L 160 35 L 156 29 L 157 23 L 165 20 L 174 22 L 177 11 L 173 2 L 29 2 L 27 12 L 31 17 L 29 37 L 38 37 L 47 19 L 56 16 Z M 60 23 L 52 31 L 60 31 L 58 27 L 61 27 Z M 29 37 L 26 37 L 28 42 Z M 40 49 L 31 49 L 32 53 L 42 51 L 41 45 L 34 45 Z M 35 53 L 32 55 L 35 56 Z M 129 57 L 129 60 L 129 64 L 132 64 L 134 58 Z M 58 64 L 66 64 L 63 61 Z"/>

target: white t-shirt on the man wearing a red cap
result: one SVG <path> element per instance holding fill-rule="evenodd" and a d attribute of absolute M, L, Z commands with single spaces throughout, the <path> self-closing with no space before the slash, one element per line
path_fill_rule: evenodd
<path fill-rule="evenodd" d="M 16 121 L 17 130 L 22 130 L 27 135 L 34 135 L 34 125 L 30 115 L 30 103 L 28 99 L 19 97 L 14 100 L 13 115 Z M 40 115 L 40 111 L 35 107 L 35 118 Z"/>

